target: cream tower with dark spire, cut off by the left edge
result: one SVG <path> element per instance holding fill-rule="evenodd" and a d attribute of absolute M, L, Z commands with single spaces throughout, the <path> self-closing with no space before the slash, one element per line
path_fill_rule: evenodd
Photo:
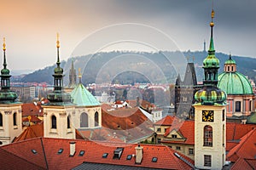
<path fill-rule="evenodd" d="M 0 76 L 0 145 L 10 144 L 22 132 L 22 104 L 15 101 L 18 96 L 10 91 L 9 78 L 11 76 L 7 69 L 5 47 L 5 38 L 3 38 L 3 69 Z"/>

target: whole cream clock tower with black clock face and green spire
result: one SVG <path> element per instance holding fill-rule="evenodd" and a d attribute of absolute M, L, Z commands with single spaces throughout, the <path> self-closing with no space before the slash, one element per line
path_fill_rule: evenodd
<path fill-rule="evenodd" d="M 222 169 L 226 145 L 226 94 L 217 87 L 219 60 L 213 44 L 212 9 L 211 39 L 203 61 L 203 88 L 195 93 L 195 167 Z"/>

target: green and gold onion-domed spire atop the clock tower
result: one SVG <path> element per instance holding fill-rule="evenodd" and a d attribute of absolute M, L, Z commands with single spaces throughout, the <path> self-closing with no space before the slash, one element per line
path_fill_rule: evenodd
<path fill-rule="evenodd" d="M 212 19 L 214 11 L 212 10 Z M 224 91 L 217 87 L 218 84 L 218 68 L 219 60 L 215 56 L 215 49 L 213 43 L 213 21 L 211 26 L 210 47 L 207 58 L 203 61 L 204 80 L 203 88 L 195 93 L 195 105 L 225 105 L 227 95 Z"/>

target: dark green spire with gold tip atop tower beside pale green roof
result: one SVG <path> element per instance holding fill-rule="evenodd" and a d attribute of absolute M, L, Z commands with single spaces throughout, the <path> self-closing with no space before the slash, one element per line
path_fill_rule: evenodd
<path fill-rule="evenodd" d="M 71 105 L 72 98 L 70 94 L 67 94 L 63 91 L 63 69 L 61 68 L 61 62 L 59 57 L 59 34 L 57 34 L 57 67 L 55 68 L 55 74 L 53 77 L 55 78 L 55 87 L 54 91 L 47 95 L 47 99 L 50 101 L 50 105 Z"/>

